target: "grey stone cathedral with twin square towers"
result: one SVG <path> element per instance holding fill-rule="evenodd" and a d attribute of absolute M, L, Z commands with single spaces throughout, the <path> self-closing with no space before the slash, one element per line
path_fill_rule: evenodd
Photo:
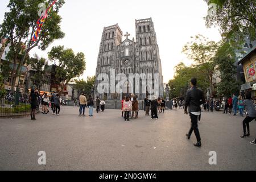
<path fill-rule="evenodd" d="M 96 69 L 96 83 L 94 88 L 94 95 L 105 98 L 106 100 L 122 100 L 123 96 L 127 94 L 136 94 L 139 100 L 143 100 L 146 96 L 163 97 L 163 76 L 162 65 L 159 56 L 158 43 L 156 41 L 156 33 L 152 18 L 135 20 L 136 40 L 129 39 L 130 34 L 126 32 L 123 35 L 118 24 L 104 27 L 100 43 L 100 51 L 98 54 L 97 69 Z M 123 36 L 125 39 L 123 40 Z M 129 83 L 129 79 L 124 84 L 127 88 L 125 92 L 110 92 L 105 90 L 104 93 L 98 92 L 98 85 L 102 80 L 97 79 L 101 73 L 106 73 L 110 78 L 110 71 L 115 72 L 115 75 L 120 73 L 127 75 L 142 73 L 152 76 L 152 89 L 159 90 L 157 93 L 151 94 L 148 87 L 142 88 L 142 80 L 140 80 L 139 91 L 135 89 L 133 84 Z M 154 85 L 156 78 L 154 75 L 158 73 L 158 84 Z M 117 81 L 116 81 L 117 82 Z M 130 88 L 129 88 L 130 87 Z M 132 87 L 132 88 L 131 88 Z M 136 91 L 137 90 L 137 91 Z M 146 92 L 142 92 L 146 90 Z"/>

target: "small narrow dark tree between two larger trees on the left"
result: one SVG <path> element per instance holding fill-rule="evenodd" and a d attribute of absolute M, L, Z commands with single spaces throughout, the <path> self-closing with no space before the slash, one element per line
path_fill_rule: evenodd
<path fill-rule="evenodd" d="M 46 59 L 43 57 L 39 58 L 38 55 L 35 55 L 35 58 L 31 58 L 28 61 L 28 64 L 30 64 L 31 68 L 35 71 L 34 75 L 31 77 L 31 81 L 40 91 L 43 84 L 47 84 L 49 82 L 45 71 L 45 69 L 48 68 Z"/>

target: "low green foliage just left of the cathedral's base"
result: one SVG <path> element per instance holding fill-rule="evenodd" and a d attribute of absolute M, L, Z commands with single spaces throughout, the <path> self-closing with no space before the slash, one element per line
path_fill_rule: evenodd
<path fill-rule="evenodd" d="M 95 84 L 95 76 L 87 77 L 87 80 L 75 80 L 74 88 L 79 91 L 79 93 L 84 92 L 87 96 L 92 94 L 92 89 Z"/>

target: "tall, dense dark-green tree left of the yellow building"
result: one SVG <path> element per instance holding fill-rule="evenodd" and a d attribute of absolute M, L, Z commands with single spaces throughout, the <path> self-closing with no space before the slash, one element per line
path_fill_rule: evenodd
<path fill-rule="evenodd" d="M 225 97 L 237 93 L 240 84 L 236 81 L 235 55 L 229 42 L 222 42 L 214 59 L 216 59 L 217 69 L 221 73 L 221 82 L 217 84 L 217 93 Z"/>

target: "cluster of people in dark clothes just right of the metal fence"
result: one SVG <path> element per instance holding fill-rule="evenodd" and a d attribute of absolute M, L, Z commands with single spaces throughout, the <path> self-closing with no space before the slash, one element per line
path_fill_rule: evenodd
<path fill-rule="evenodd" d="M 60 98 L 59 94 L 53 92 L 49 96 L 47 93 L 44 93 L 40 96 L 38 90 L 31 88 L 30 91 L 30 105 L 31 105 L 31 120 L 35 121 L 35 111 L 37 108 L 42 106 L 42 113 L 48 114 L 49 107 L 52 109 L 52 115 L 59 115 L 60 114 Z"/>

